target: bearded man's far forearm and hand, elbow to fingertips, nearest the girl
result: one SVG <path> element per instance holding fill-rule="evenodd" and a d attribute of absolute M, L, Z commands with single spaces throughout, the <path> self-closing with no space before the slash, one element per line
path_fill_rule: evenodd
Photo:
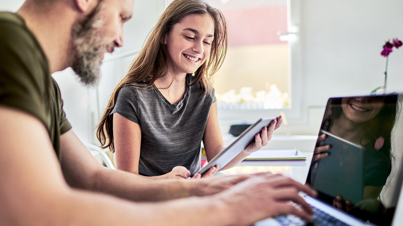
<path fill-rule="evenodd" d="M 189 196 L 216 194 L 251 175 L 232 175 L 209 179 L 160 179 L 140 177 L 125 171 L 102 168 L 94 177 L 91 190 L 133 201 L 163 201 Z"/>

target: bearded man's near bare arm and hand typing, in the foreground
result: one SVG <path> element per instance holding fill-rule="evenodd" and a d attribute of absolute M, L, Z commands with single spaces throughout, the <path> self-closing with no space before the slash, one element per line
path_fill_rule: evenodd
<path fill-rule="evenodd" d="M 207 197 L 134 203 L 73 189 L 63 179 L 48 131 L 36 118 L 0 107 L 0 225 L 249 225 L 274 214 L 309 218 L 299 191 L 280 175 L 254 177 Z M 89 163 L 91 164 L 91 162 Z M 302 205 L 297 210 L 287 204 Z M 266 203 L 266 205 L 261 205 Z M 208 217 L 206 217 L 208 216 Z"/>

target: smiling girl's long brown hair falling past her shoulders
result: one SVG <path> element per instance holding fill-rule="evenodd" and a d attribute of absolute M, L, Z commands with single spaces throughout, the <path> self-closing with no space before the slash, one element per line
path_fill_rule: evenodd
<path fill-rule="evenodd" d="M 174 0 L 162 13 L 157 25 L 150 33 L 147 42 L 139 55 L 129 68 L 129 72 L 114 89 L 106 106 L 104 115 L 97 129 L 97 138 L 101 148 L 108 148 L 114 152 L 113 124 L 109 114 L 115 107 L 118 93 L 123 86 L 142 84 L 150 87 L 155 80 L 164 76 L 168 68 L 173 68 L 168 56 L 164 38 L 172 30 L 172 27 L 180 23 L 183 17 L 190 14 L 209 14 L 214 20 L 214 40 L 211 45 L 210 56 L 195 72 L 195 82 L 200 82 L 204 92 L 211 90 L 212 75 L 221 67 L 227 51 L 226 21 L 222 12 L 211 7 L 203 0 Z"/>

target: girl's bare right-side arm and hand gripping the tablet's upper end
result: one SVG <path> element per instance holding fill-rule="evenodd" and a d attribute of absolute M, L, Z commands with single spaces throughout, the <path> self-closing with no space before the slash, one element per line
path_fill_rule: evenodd
<path fill-rule="evenodd" d="M 282 123 L 281 116 L 278 120 L 273 120 L 268 127 L 264 127 L 262 131 L 255 135 L 255 142 L 247 146 L 241 153 L 239 153 L 233 160 L 221 168 L 221 170 L 229 169 L 236 166 L 249 156 L 252 152 L 256 152 L 272 138 L 274 129 L 280 127 Z M 206 150 L 207 161 L 210 161 L 214 156 L 220 153 L 221 150 L 226 148 L 224 140 L 222 138 L 222 133 L 220 125 L 218 123 L 218 110 L 217 103 L 213 103 L 210 108 L 210 113 L 208 115 L 206 130 L 203 136 L 204 149 Z"/>

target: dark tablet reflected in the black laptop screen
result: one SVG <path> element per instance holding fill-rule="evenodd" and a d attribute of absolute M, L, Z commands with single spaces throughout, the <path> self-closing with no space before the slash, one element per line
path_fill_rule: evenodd
<path fill-rule="evenodd" d="M 322 158 L 311 166 L 311 186 L 331 198 L 341 196 L 344 201 L 355 205 L 364 193 L 364 150 L 359 144 L 340 138 L 323 129 L 319 135 L 326 139 L 318 144 L 330 144 Z"/>

